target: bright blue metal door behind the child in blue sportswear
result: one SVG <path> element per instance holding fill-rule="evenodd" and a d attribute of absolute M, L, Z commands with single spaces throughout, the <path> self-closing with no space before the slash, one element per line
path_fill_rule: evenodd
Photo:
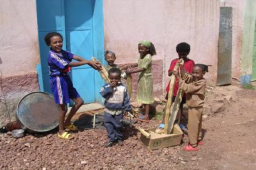
<path fill-rule="evenodd" d="M 86 60 L 96 56 L 103 62 L 104 39 L 102 0 L 37 0 L 38 37 L 41 66 L 38 67 L 40 90 L 51 93 L 47 57 L 49 47 L 44 43 L 48 32 L 63 36 L 63 50 Z M 99 89 L 103 81 L 88 65 L 73 67 L 71 80 L 85 103 L 101 102 Z"/>

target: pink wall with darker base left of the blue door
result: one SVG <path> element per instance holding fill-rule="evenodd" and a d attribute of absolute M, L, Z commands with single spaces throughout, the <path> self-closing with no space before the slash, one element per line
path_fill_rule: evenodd
<path fill-rule="evenodd" d="M 25 5 L 25 6 L 24 6 Z M 37 15 L 34 0 L 0 0 L 0 127 L 13 119 L 23 95 L 38 90 Z"/>

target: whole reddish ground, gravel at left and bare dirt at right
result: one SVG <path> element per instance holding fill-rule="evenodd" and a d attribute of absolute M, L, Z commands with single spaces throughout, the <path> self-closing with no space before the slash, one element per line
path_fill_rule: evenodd
<path fill-rule="evenodd" d="M 134 127 L 124 129 L 124 146 L 111 148 L 103 146 L 107 132 L 102 129 L 79 131 L 70 141 L 55 132 L 19 139 L 0 134 L 0 169 L 255 169 L 255 96 L 255 90 L 238 86 L 208 87 L 199 151 L 183 150 L 184 135 L 180 146 L 149 152 Z"/>

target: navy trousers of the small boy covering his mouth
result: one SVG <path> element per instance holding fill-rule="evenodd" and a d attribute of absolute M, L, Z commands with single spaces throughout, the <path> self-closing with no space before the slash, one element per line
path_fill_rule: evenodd
<path fill-rule="evenodd" d="M 107 129 L 107 137 L 109 141 L 123 140 L 123 124 L 120 121 L 123 117 L 123 113 L 119 115 L 111 115 L 104 112 L 104 124 Z"/>

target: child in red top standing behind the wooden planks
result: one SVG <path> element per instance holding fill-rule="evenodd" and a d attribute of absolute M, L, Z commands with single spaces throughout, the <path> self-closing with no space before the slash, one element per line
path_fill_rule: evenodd
<path fill-rule="evenodd" d="M 172 75 L 174 66 L 180 60 L 180 58 L 183 59 L 183 61 L 184 61 L 184 65 L 183 66 L 185 67 L 185 70 L 188 73 L 192 72 L 192 68 L 194 66 L 194 61 L 190 60 L 189 58 L 187 58 L 188 54 L 190 53 L 190 44 L 188 44 L 186 42 L 179 43 L 176 46 L 176 52 L 178 53 L 179 58 L 176 58 L 176 59 L 171 61 L 171 64 L 170 64 L 170 67 L 169 67 L 169 70 L 168 70 L 168 76 L 169 77 Z M 168 84 L 168 86 L 166 87 L 166 93 L 167 93 L 166 97 L 165 97 L 166 100 L 168 100 L 169 86 L 170 86 L 170 84 Z M 178 84 L 178 80 L 176 78 L 176 81 L 174 83 L 174 89 L 173 89 L 172 103 L 174 102 L 174 100 L 176 98 L 178 90 L 179 90 L 179 84 Z M 180 121 L 180 117 L 183 115 L 183 104 L 185 102 L 186 102 L 186 94 L 183 94 L 182 101 L 180 102 L 180 108 L 179 108 L 179 110 L 177 112 L 178 123 Z M 165 121 L 165 113 L 163 115 L 162 123 L 158 127 L 159 129 L 163 129 L 165 127 L 165 124 L 164 124 L 165 122 L 164 121 Z M 187 127 L 182 126 L 182 125 L 183 124 L 180 124 L 180 126 L 182 127 L 182 130 L 183 131 L 187 131 Z"/>

